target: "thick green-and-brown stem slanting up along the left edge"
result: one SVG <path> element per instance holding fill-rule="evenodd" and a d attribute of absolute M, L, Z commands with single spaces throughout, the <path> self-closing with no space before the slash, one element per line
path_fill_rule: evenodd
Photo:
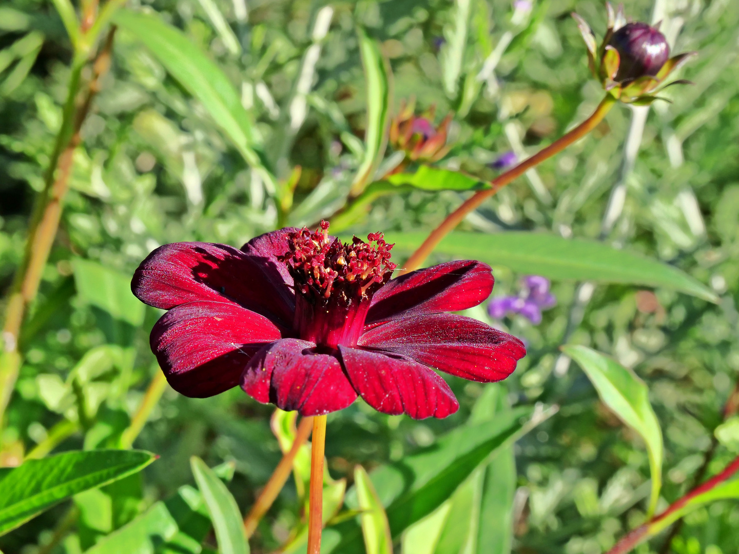
<path fill-rule="evenodd" d="M 81 128 L 89 113 L 92 100 L 100 89 L 101 77 L 110 67 L 115 27 L 108 33 L 106 42 L 92 66 L 93 75 L 82 103 L 75 107 L 81 70 L 84 60 L 75 57 L 69 95 L 65 105 L 65 120 L 57 136 L 51 162 L 47 170 L 44 191 L 39 194 L 28 230 L 24 259 L 13 281 L 13 289 L 5 310 L 0 355 L 0 424 L 10 394 L 16 384 L 21 359 L 18 353 L 18 337 L 29 304 L 38 293 L 41 274 L 44 271 L 52 244 L 59 228 L 64 196 L 69 188 L 69 175 L 74 165 L 74 153 L 81 141 Z"/>

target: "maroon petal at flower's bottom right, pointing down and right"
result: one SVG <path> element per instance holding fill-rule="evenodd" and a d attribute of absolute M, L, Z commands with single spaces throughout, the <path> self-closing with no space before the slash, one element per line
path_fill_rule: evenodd
<path fill-rule="evenodd" d="M 460 407 L 446 381 L 420 363 L 380 352 L 338 348 L 354 388 L 377 411 L 423 420 L 446 417 Z"/>

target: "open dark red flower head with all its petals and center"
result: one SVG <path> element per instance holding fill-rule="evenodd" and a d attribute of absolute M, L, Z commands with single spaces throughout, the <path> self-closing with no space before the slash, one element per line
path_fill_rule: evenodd
<path fill-rule="evenodd" d="M 240 384 L 302 415 L 359 395 L 386 414 L 446 417 L 459 404 L 430 368 L 490 382 L 525 355 L 517 338 L 446 313 L 488 298 L 486 264 L 451 261 L 391 281 L 382 233 L 342 244 L 327 228 L 277 230 L 241 250 L 166 244 L 141 263 L 131 287 L 168 310 L 151 350 L 172 388 L 208 397 Z"/>

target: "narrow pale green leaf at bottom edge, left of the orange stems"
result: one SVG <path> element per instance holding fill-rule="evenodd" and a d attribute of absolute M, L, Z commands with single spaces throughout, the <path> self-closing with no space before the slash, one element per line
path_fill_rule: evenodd
<path fill-rule="evenodd" d="M 221 554 L 249 554 L 244 522 L 239 506 L 218 476 L 197 456 L 190 458 L 190 467 L 200 489 L 216 531 Z"/>

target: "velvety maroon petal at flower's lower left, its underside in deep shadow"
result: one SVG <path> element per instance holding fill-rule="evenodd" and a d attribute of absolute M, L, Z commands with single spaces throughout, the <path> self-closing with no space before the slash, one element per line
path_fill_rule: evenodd
<path fill-rule="evenodd" d="M 262 315 L 236 304 L 199 301 L 166 312 L 150 341 L 172 389 L 204 398 L 238 385 L 251 357 L 279 338 Z"/>

